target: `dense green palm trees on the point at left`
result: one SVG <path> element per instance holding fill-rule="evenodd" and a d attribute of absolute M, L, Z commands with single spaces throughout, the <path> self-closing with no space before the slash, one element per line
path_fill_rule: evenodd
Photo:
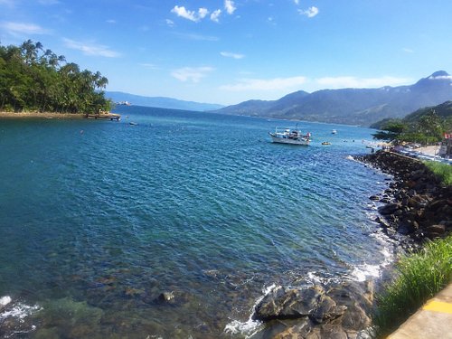
<path fill-rule="evenodd" d="M 107 78 L 99 71 L 80 71 L 41 42 L 0 45 L 0 110 L 92 113 L 109 110 Z"/>

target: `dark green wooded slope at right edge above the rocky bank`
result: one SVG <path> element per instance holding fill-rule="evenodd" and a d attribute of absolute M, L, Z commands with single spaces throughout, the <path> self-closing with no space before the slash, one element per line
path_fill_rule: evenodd
<path fill-rule="evenodd" d="M 419 109 L 403 119 L 381 120 L 372 127 L 381 129 L 373 134 L 376 139 L 433 144 L 452 132 L 452 101 Z"/>

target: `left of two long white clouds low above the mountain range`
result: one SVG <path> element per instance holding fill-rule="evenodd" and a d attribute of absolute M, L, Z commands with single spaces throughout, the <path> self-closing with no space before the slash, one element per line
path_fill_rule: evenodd
<path fill-rule="evenodd" d="M 306 80 L 306 77 L 301 76 L 275 79 L 241 79 L 236 84 L 223 85 L 221 89 L 230 91 L 292 89 L 305 84 Z"/>

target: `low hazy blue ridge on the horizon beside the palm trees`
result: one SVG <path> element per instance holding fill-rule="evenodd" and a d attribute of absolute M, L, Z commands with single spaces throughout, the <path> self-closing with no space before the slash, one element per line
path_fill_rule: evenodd
<path fill-rule="evenodd" d="M 132 105 L 155 107 L 155 108 L 171 108 L 171 109 L 185 109 L 185 110 L 214 110 L 223 108 L 222 105 L 207 104 L 194 101 L 184 101 L 165 97 L 143 97 L 135 94 L 125 92 L 106 91 L 106 98 L 112 99 L 113 102 L 130 102 Z"/>

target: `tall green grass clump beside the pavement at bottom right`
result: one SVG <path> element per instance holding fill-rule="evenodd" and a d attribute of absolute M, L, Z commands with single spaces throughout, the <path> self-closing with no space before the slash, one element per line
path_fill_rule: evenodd
<path fill-rule="evenodd" d="M 397 278 L 376 296 L 373 325 L 378 338 L 395 331 L 452 280 L 452 235 L 402 256 L 396 271 Z"/>

